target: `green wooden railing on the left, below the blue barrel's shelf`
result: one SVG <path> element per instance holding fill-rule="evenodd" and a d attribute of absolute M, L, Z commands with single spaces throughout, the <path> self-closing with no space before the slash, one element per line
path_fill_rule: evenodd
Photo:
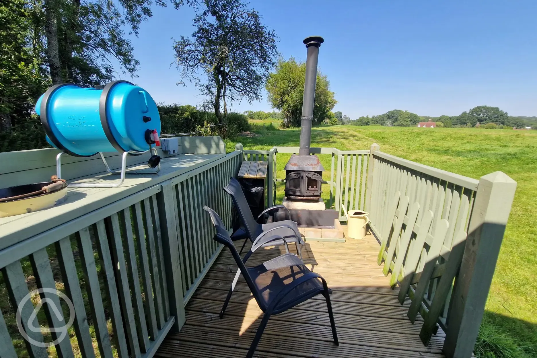
<path fill-rule="evenodd" d="M 0 314 L 0 357 L 48 357 L 50 349 L 59 357 L 73 357 L 72 342 L 83 357 L 153 356 L 165 335 L 184 324 L 185 304 L 222 250 L 212 240 L 214 229 L 202 207 L 214 208 L 230 227 L 231 202 L 222 187 L 236 176 L 241 160 L 240 151 L 213 156 L 208 164 L 176 177 L 167 174 L 172 178 L 160 183 L 156 178 L 156 185 L 140 185 L 134 194 L 130 190 L 120 200 L 0 250 L 4 289 L 14 310 L 21 308 L 24 331 L 38 342 L 24 340 L 24 352 L 21 337 L 8 330 Z M 45 324 L 45 318 L 32 316 L 32 301 L 24 302 L 32 276 L 38 289 L 55 291 L 61 281 L 59 289 L 74 304 L 74 337 L 48 350 L 39 342 L 59 333 L 52 330 L 52 337 L 43 337 L 27 324 Z M 41 299 L 55 306 L 43 305 L 45 326 L 63 327 L 69 309 L 54 310 L 62 307 L 54 292 L 42 293 Z"/>

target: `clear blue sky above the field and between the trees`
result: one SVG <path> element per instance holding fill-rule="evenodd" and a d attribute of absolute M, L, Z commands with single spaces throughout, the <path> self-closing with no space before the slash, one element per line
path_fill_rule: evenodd
<path fill-rule="evenodd" d="M 278 34 L 278 51 L 306 57 L 302 40 L 321 35 L 319 66 L 351 119 L 406 109 L 458 115 L 477 105 L 537 115 L 537 1 L 253 0 Z M 176 85 L 171 38 L 190 35 L 194 14 L 154 8 L 132 37 L 136 84 L 156 101 L 198 105 L 193 84 Z M 236 111 L 270 111 L 264 98 Z"/>

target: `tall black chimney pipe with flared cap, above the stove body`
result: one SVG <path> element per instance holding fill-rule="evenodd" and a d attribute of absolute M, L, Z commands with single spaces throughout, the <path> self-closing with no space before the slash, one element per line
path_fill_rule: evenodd
<path fill-rule="evenodd" d="M 299 155 L 309 155 L 311 144 L 311 125 L 313 122 L 313 106 L 315 104 L 315 83 L 317 82 L 317 61 L 319 47 L 324 39 L 321 36 L 309 36 L 304 41 L 308 48 L 306 58 L 306 82 L 304 83 L 304 99 L 302 100 L 302 123 L 300 128 Z"/>

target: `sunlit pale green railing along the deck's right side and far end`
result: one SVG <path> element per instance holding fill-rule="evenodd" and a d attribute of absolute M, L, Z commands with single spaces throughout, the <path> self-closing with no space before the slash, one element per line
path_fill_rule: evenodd
<path fill-rule="evenodd" d="M 242 150 L 242 145 L 237 145 Z M 298 147 L 244 150 L 246 160 L 269 160 Z M 422 324 L 425 345 L 441 328 L 448 357 L 470 357 L 496 266 L 516 182 L 502 172 L 480 180 L 388 155 L 377 144 L 369 150 L 310 148 L 330 154 L 329 206 L 370 213 L 379 240 L 379 265 L 410 299 L 408 317 Z M 269 155 L 264 157 L 264 155 Z M 272 175 L 272 176 L 271 176 Z M 269 173 L 269 182 L 285 181 Z M 271 196 L 275 198 L 275 194 Z M 270 201 L 274 204 L 274 201 Z M 407 298 L 407 296 L 409 298 Z M 417 316 L 423 318 L 416 322 Z"/>

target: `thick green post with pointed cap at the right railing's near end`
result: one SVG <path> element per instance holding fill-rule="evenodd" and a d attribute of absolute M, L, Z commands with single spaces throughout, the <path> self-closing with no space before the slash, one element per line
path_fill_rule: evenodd
<path fill-rule="evenodd" d="M 447 358 L 470 357 L 474 350 L 516 188 L 517 182 L 503 172 L 479 181 L 446 321 Z"/>

